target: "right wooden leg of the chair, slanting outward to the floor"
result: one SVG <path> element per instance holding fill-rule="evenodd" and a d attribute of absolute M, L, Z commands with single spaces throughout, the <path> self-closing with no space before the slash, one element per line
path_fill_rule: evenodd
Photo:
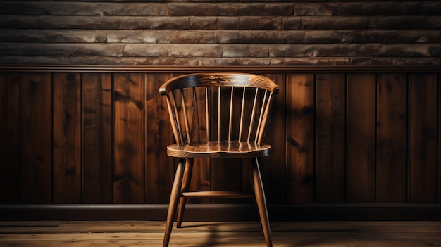
<path fill-rule="evenodd" d="M 266 208 L 265 192 L 263 191 L 261 172 L 259 169 L 259 161 L 257 160 L 257 158 L 253 158 L 253 184 L 254 184 L 254 194 L 256 196 L 257 208 L 259 208 L 259 215 L 261 218 L 261 224 L 263 228 L 263 235 L 265 236 L 266 246 L 272 247 L 273 241 L 271 240 L 271 230 L 268 220 L 268 210 Z"/>

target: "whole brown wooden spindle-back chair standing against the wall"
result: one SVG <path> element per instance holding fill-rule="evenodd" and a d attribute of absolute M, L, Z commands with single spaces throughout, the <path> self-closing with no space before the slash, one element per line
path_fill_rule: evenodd
<path fill-rule="evenodd" d="M 266 245 L 272 246 L 266 199 L 258 157 L 268 156 L 263 144 L 268 110 L 278 86 L 269 78 L 242 73 L 198 73 L 174 77 L 159 89 L 167 96 L 176 144 L 168 156 L 179 158 L 170 194 L 163 246 L 168 246 L 178 208 L 181 227 L 189 197 L 255 197 Z M 188 191 L 194 158 L 251 158 L 254 194 L 233 191 Z"/>

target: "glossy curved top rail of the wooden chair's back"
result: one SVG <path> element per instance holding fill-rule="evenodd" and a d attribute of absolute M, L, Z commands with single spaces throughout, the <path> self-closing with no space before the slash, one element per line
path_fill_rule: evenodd
<path fill-rule="evenodd" d="M 171 83 L 173 82 L 173 83 Z M 182 83 L 179 83 L 182 82 Z M 219 86 L 219 87 L 259 87 L 278 94 L 279 87 L 273 80 L 263 75 L 254 75 L 247 73 L 196 73 L 173 77 L 166 81 L 159 93 L 166 95 L 170 91 L 180 89 L 181 87 L 200 87 L 200 86 Z"/>

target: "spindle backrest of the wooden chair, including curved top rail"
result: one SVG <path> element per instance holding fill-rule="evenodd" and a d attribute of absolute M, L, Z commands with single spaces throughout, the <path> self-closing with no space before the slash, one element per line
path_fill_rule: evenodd
<path fill-rule="evenodd" d="M 167 96 L 177 144 L 241 141 L 260 144 L 278 86 L 244 73 L 197 73 L 173 77 L 159 89 Z"/>

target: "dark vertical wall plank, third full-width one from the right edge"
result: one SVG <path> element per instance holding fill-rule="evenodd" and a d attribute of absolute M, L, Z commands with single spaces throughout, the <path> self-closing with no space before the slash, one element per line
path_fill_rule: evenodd
<path fill-rule="evenodd" d="M 347 75 L 347 203 L 375 202 L 375 74 Z"/>

